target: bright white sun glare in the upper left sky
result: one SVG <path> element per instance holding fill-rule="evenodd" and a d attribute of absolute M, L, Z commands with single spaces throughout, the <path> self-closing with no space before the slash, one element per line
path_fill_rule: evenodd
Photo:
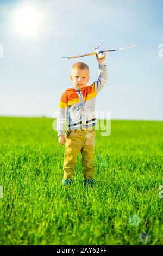
<path fill-rule="evenodd" d="M 42 16 L 34 7 L 21 7 L 15 10 L 14 27 L 22 35 L 36 36 L 41 28 Z"/>

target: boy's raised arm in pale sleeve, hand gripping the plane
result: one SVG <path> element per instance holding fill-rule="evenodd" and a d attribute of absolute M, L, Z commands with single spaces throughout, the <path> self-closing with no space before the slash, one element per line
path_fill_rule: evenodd
<path fill-rule="evenodd" d="M 104 65 L 106 54 L 104 53 L 103 59 L 98 58 L 98 56 L 96 55 L 96 59 L 99 64 L 99 77 L 97 81 L 93 82 L 93 84 L 95 86 L 96 92 L 99 93 L 108 79 L 107 68 L 106 65 Z"/>

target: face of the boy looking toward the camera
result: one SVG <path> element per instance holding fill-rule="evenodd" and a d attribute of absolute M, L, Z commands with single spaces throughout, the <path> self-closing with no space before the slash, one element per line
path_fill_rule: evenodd
<path fill-rule="evenodd" d="M 73 82 L 73 86 L 80 89 L 86 86 L 89 81 L 89 70 L 73 68 L 70 75 L 70 80 Z"/>

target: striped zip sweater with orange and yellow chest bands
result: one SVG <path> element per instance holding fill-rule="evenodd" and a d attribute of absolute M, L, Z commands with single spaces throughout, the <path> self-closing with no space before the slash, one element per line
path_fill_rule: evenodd
<path fill-rule="evenodd" d="M 71 130 L 79 129 L 80 127 L 92 127 L 96 124 L 96 95 L 104 87 L 106 81 L 106 65 L 99 65 L 97 81 L 80 89 L 69 87 L 62 93 L 57 114 L 58 136 L 65 135 L 66 120 L 68 129 Z"/>

